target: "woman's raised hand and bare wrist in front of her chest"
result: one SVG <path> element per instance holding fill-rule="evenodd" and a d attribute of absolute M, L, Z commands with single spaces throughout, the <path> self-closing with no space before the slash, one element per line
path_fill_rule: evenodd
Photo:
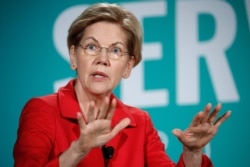
<path fill-rule="evenodd" d="M 76 166 L 91 149 L 105 145 L 129 125 L 130 120 L 124 118 L 114 127 L 111 127 L 115 106 L 115 99 L 110 103 L 109 98 L 105 98 L 99 108 L 94 102 L 90 102 L 85 113 L 83 106 L 80 104 L 81 112 L 77 113 L 80 136 L 60 155 L 60 167 Z"/>

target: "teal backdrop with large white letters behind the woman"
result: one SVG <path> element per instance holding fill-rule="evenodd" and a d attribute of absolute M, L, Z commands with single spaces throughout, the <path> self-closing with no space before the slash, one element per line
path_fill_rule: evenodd
<path fill-rule="evenodd" d="M 1 166 L 13 166 L 18 119 L 27 100 L 55 92 L 75 77 L 67 29 L 95 2 L 1 2 Z M 250 166 L 250 1 L 109 2 L 131 10 L 144 29 L 143 60 L 115 94 L 149 112 L 174 161 L 182 146 L 171 130 L 185 129 L 207 103 L 222 103 L 222 111 L 230 109 L 232 115 L 204 153 L 216 167 Z"/>

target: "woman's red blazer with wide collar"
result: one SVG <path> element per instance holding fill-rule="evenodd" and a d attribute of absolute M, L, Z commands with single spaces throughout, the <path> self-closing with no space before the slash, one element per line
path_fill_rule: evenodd
<path fill-rule="evenodd" d="M 74 82 L 24 106 L 13 153 L 16 167 L 59 166 L 58 157 L 79 136 L 76 112 L 80 108 Z M 147 112 L 117 99 L 112 125 L 125 117 L 131 120 L 130 125 L 106 144 L 115 150 L 109 167 L 184 167 L 182 156 L 177 164 L 167 156 Z M 101 149 L 91 150 L 78 166 L 104 167 Z M 202 166 L 212 167 L 205 155 Z"/>

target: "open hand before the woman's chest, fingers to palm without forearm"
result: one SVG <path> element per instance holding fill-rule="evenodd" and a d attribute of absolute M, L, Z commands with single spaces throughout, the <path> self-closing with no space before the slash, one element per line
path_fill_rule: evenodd
<path fill-rule="evenodd" d="M 115 99 L 110 103 L 109 98 L 105 98 L 104 103 L 99 108 L 97 108 L 94 102 L 91 102 L 85 113 L 80 105 L 82 112 L 77 113 L 77 120 L 80 126 L 80 137 L 77 140 L 79 152 L 86 153 L 92 148 L 103 146 L 129 125 L 130 120 L 125 118 L 115 127 L 111 127 L 115 106 Z"/>

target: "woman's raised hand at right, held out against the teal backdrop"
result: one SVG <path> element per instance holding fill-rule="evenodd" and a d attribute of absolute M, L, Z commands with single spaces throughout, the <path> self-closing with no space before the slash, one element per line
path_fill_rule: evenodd
<path fill-rule="evenodd" d="M 209 143 L 217 133 L 219 126 L 230 116 L 231 111 L 227 111 L 216 119 L 221 109 L 221 104 L 217 104 L 210 112 L 212 106 L 207 104 L 203 111 L 199 112 L 193 119 L 191 125 L 185 130 L 174 129 L 173 134 L 180 140 L 185 149 L 196 152 Z"/>

